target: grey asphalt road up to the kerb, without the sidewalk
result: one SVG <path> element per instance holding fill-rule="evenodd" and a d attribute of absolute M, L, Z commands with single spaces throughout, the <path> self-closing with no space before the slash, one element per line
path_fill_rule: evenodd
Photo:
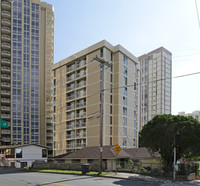
<path fill-rule="evenodd" d="M 0 186 L 100 186 L 100 185 L 103 186 L 170 185 L 171 186 L 180 184 L 146 183 L 142 181 L 131 181 L 131 180 L 105 178 L 105 177 L 24 172 L 15 169 L 0 170 Z M 187 185 L 189 186 L 191 184 Z"/>

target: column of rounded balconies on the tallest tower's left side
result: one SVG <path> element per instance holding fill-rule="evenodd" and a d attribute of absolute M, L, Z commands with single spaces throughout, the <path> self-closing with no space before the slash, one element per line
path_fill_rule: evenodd
<path fill-rule="evenodd" d="M 1 59 L 0 59 L 0 117 L 9 122 L 9 128 L 0 132 L 2 144 L 10 144 L 11 121 L 11 0 L 0 0 L 1 4 Z"/>

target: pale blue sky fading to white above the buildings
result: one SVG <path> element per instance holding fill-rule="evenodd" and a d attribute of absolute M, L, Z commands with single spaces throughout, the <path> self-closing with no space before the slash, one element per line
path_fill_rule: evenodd
<path fill-rule="evenodd" d="M 44 0 L 54 6 L 55 63 L 103 39 L 136 57 L 172 52 L 172 76 L 200 72 L 195 0 Z M 200 0 L 197 0 L 200 11 Z M 172 114 L 200 110 L 200 74 L 173 79 Z"/>

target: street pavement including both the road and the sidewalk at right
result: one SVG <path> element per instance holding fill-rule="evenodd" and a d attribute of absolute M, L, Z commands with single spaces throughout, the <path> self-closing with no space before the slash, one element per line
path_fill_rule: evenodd
<path fill-rule="evenodd" d="M 0 170 L 0 186 L 178 186 L 200 185 L 200 182 L 172 182 L 148 176 L 112 173 L 107 177 Z"/>

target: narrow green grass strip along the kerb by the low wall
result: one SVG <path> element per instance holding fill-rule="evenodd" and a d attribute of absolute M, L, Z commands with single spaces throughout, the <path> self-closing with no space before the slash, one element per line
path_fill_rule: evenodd
<path fill-rule="evenodd" d="M 54 170 L 54 169 L 29 169 L 31 172 L 47 172 L 47 173 L 59 173 L 59 174 L 82 174 L 82 171 L 71 171 L 71 170 Z M 108 175 L 109 173 L 103 172 L 100 175 Z M 88 172 L 87 175 L 98 175 L 98 172 Z"/>

